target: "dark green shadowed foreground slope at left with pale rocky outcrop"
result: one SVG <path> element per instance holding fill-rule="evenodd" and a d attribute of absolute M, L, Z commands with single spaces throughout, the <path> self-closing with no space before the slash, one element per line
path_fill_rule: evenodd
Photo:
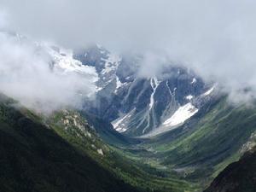
<path fill-rule="evenodd" d="M 196 189 L 172 172 L 165 175 L 103 143 L 76 111 L 61 110 L 45 117 L 3 95 L 0 109 L 1 191 Z"/>

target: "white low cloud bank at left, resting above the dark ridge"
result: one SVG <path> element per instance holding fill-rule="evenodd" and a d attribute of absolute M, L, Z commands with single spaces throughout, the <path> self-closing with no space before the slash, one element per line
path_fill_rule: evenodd
<path fill-rule="evenodd" d="M 0 58 L 0 92 L 40 113 L 78 108 L 94 93 L 91 72 L 86 76 L 51 67 L 50 55 L 26 39 L 0 33 Z"/>

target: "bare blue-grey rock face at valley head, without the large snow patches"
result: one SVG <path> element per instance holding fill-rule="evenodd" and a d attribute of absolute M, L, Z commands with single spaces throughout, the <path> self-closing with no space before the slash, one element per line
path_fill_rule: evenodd
<path fill-rule="evenodd" d="M 160 77 L 139 78 L 140 57 L 120 58 L 97 46 L 77 51 L 74 58 L 96 67 L 99 76 L 96 99 L 84 109 L 109 122 L 122 119 L 115 128 L 131 136 L 154 130 L 189 102 L 199 108 L 211 88 L 182 67 L 168 67 Z"/>

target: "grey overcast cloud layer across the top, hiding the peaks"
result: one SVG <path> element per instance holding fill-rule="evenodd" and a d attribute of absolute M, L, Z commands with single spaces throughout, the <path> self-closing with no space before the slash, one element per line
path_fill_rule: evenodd
<path fill-rule="evenodd" d="M 5 27 L 35 39 L 67 47 L 96 42 L 146 55 L 149 75 L 160 62 L 172 61 L 233 95 L 245 86 L 256 90 L 253 0 L 0 0 L 0 5 Z M 147 71 L 150 67 L 155 70 Z"/>

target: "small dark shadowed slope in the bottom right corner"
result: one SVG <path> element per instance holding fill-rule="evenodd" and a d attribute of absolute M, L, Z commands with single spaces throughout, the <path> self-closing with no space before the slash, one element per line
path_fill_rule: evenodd
<path fill-rule="evenodd" d="M 241 160 L 227 166 L 205 192 L 256 191 L 256 152 L 250 151 Z"/>

